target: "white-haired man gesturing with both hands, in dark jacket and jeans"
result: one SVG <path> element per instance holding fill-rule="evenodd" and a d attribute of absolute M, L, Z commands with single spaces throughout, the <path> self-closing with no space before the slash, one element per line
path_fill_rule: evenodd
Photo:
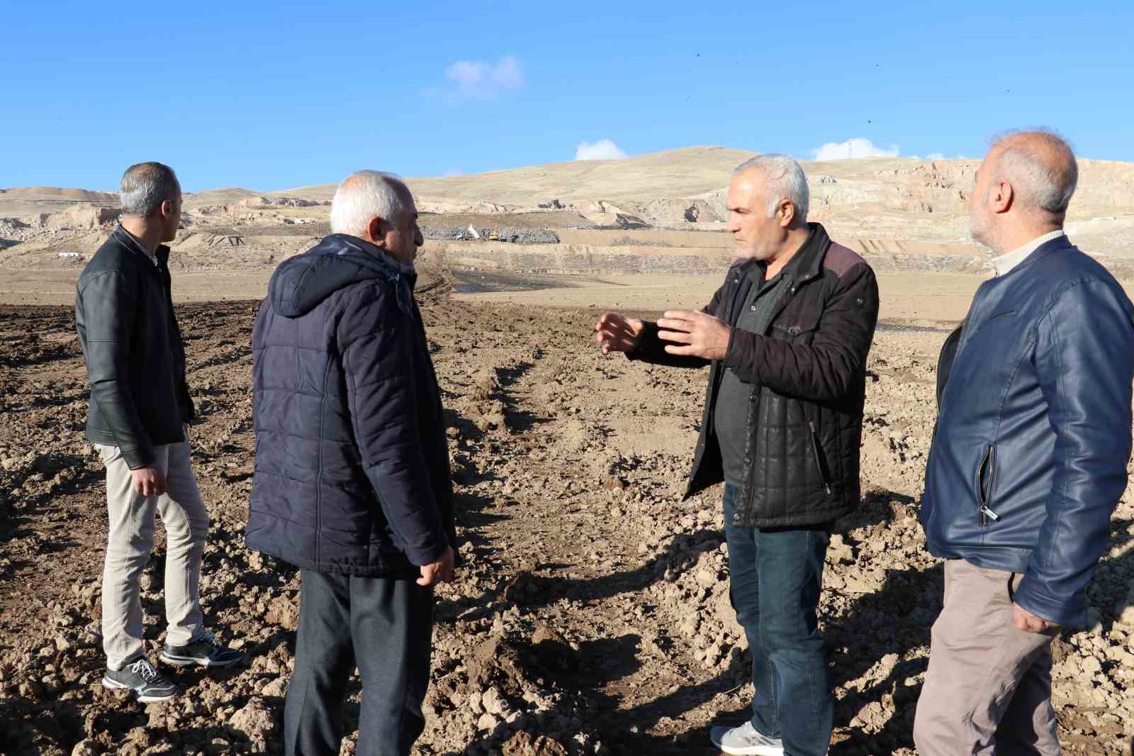
<path fill-rule="evenodd" d="M 833 702 L 816 607 L 835 520 L 858 505 L 858 445 L 878 284 L 809 224 L 787 156 L 739 166 L 728 187 L 739 259 L 697 312 L 657 324 L 604 314 L 604 353 L 711 364 L 686 496 L 725 481 L 730 596 L 752 649 L 753 715 L 713 728 L 727 754 L 820 756 Z"/>

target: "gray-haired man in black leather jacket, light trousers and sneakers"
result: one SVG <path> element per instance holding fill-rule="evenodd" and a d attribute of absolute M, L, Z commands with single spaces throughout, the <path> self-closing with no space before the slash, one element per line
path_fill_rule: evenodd
<path fill-rule="evenodd" d="M 197 590 L 209 513 L 189 467 L 193 401 L 162 244 L 177 234 L 181 187 L 168 166 L 138 163 L 122 176 L 121 203 L 121 225 L 79 277 L 75 325 L 91 384 L 86 438 L 107 468 L 102 684 L 150 703 L 178 692 L 146 658 L 142 639 L 139 583 L 155 513 L 167 538 L 161 660 L 230 666 L 244 655 L 205 630 Z"/>

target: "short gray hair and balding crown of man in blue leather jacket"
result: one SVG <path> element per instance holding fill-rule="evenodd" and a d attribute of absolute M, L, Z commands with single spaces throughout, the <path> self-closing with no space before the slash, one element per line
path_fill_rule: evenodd
<path fill-rule="evenodd" d="M 1064 216 L 1078 184 L 1078 163 L 1070 144 L 1047 128 L 1006 132 L 993 148 L 1002 148 L 997 176 L 1012 184 L 1025 210 Z"/>

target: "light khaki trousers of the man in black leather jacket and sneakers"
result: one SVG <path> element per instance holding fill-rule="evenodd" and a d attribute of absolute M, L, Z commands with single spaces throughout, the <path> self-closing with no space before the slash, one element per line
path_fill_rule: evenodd
<path fill-rule="evenodd" d="M 107 562 L 102 571 L 102 648 L 107 667 L 120 670 L 145 654 L 142 641 L 142 570 L 153 549 L 154 514 L 166 528 L 166 642 L 184 646 L 204 630 L 201 555 L 209 512 L 189 467 L 188 443 L 154 448 L 153 467 L 167 492 L 143 496 L 117 446 L 96 444 L 107 468 Z"/>

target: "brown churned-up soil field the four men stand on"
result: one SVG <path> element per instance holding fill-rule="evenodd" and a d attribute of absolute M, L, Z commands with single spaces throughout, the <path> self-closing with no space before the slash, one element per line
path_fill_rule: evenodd
<path fill-rule="evenodd" d="M 714 754 L 705 728 L 743 721 L 752 690 L 728 603 L 720 492 L 680 499 L 704 372 L 602 358 L 589 342 L 593 311 L 442 292 L 425 292 L 424 317 L 467 566 L 438 591 L 416 753 Z M 87 392 L 70 313 L 0 310 L 0 753 L 280 753 L 298 578 L 243 545 L 254 310 L 179 309 L 201 414 L 193 461 L 213 523 L 205 612 L 251 658 L 171 671 L 191 694 L 150 706 L 99 686 L 104 490 L 83 442 Z M 943 336 L 880 331 L 869 364 L 865 495 L 839 523 L 821 604 L 836 756 L 913 754 L 941 602 L 941 566 L 916 514 Z M 1067 753 L 1128 753 L 1134 736 L 1132 502 L 1127 493 L 1089 589 L 1097 625 L 1056 644 Z M 162 555 L 159 543 L 144 579 L 153 650 Z M 353 728 L 356 678 L 350 690 Z"/>

